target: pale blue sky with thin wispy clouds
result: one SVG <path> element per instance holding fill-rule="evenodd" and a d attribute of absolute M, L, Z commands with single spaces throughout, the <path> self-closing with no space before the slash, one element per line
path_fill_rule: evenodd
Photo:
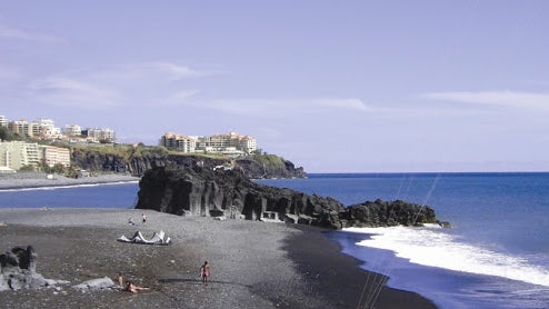
<path fill-rule="evenodd" d="M 0 114 L 307 172 L 549 171 L 549 1 L 0 0 Z"/>

